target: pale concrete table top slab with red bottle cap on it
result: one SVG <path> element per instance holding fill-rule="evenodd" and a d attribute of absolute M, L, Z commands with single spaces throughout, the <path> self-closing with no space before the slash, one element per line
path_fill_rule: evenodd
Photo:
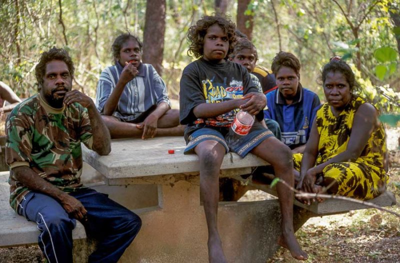
<path fill-rule="evenodd" d="M 102 173 L 107 179 L 188 174 L 198 172 L 196 154 L 183 154 L 186 143 L 181 136 L 156 137 L 148 140 L 117 139 L 111 141 L 111 152 L 100 156 L 82 146 L 83 160 Z M 168 150 L 173 149 L 174 154 Z M 221 170 L 248 168 L 268 164 L 249 153 L 241 158 L 235 153 L 226 153 Z"/>

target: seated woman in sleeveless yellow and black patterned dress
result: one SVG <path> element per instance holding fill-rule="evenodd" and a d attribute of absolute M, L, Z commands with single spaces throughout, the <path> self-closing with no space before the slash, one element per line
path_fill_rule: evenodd
<path fill-rule="evenodd" d="M 293 156 L 300 170 L 297 188 L 374 198 L 388 180 L 386 135 L 378 110 L 356 95 L 359 84 L 339 57 L 323 66 L 321 82 L 327 102 L 316 113 L 303 155 Z"/>

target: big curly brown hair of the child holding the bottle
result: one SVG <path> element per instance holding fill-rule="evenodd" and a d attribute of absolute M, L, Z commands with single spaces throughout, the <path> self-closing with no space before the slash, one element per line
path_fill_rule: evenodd
<path fill-rule="evenodd" d="M 203 55 L 204 35 L 208 27 L 214 23 L 217 23 L 227 35 L 229 49 L 226 56 L 232 52 L 236 25 L 230 20 L 228 15 L 216 13 L 212 16 L 203 15 L 201 19 L 197 20 L 196 24 L 190 26 L 187 33 L 187 43 L 189 44 L 188 55 L 193 55 L 196 58 Z"/>

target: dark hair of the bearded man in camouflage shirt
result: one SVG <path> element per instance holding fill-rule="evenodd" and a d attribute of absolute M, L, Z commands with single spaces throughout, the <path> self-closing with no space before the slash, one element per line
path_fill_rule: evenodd
<path fill-rule="evenodd" d="M 52 48 L 50 48 L 50 50 L 43 52 L 40 55 L 39 62 L 34 68 L 38 91 L 41 89 L 41 85 L 43 84 L 43 78 L 46 73 L 46 64 L 51 60 L 64 61 L 65 64 L 68 66 L 69 74 L 73 78 L 75 67 L 73 66 L 72 58 L 69 56 L 68 51 L 63 48 L 56 48 L 55 46 L 53 46 Z"/>

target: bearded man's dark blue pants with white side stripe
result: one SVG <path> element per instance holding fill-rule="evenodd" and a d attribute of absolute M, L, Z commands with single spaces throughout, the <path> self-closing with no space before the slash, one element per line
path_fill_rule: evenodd
<path fill-rule="evenodd" d="M 106 194 L 87 188 L 70 193 L 87 210 L 82 220 L 86 235 L 98 240 L 88 262 L 116 262 L 141 226 L 139 216 L 109 199 Z M 31 191 L 24 196 L 18 214 L 37 223 L 38 243 L 48 262 L 72 262 L 72 229 L 76 225 L 54 198 Z"/>

